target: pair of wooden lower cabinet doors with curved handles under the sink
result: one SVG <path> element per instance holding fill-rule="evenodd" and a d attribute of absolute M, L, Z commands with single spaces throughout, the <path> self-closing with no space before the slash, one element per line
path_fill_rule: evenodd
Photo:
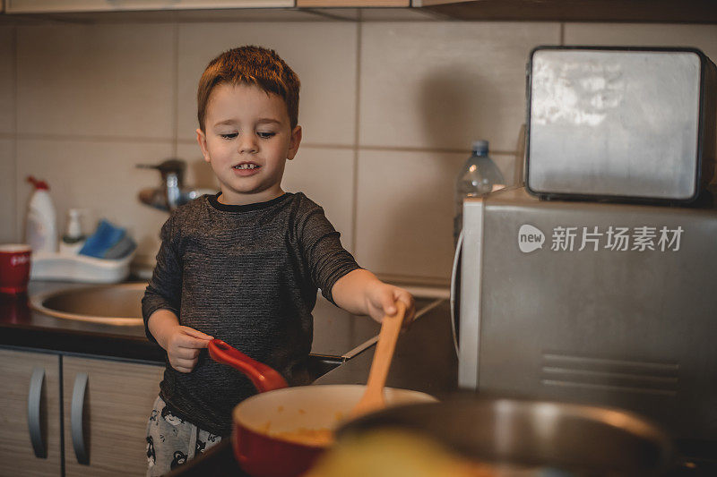
<path fill-rule="evenodd" d="M 0 348 L 0 476 L 62 475 L 63 443 L 66 477 L 143 475 L 163 372 L 159 364 Z"/>

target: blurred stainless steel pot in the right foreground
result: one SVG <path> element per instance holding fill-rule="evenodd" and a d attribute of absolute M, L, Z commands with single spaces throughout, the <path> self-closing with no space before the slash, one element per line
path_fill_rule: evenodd
<path fill-rule="evenodd" d="M 634 413 L 508 398 L 461 398 L 386 409 L 349 422 L 337 436 L 341 443 L 384 428 L 428 435 L 480 461 L 547 467 L 571 475 L 661 475 L 673 456 L 666 432 Z"/>

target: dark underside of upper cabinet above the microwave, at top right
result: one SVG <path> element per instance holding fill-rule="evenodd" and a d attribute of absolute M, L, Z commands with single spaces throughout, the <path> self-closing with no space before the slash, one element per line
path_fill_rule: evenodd
<path fill-rule="evenodd" d="M 715 0 L 413 0 L 439 15 L 461 20 L 654 21 L 715 23 Z"/>

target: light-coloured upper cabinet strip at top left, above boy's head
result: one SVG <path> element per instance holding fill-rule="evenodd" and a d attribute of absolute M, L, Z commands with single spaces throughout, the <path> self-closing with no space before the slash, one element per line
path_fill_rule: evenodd
<path fill-rule="evenodd" d="M 294 0 L 5 0 L 6 13 L 293 7 Z"/>

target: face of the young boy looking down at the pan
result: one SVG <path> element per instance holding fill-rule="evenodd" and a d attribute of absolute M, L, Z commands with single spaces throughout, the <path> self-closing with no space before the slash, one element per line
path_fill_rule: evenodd
<path fill-rule="evenodd" d="M 284 100 L 255 85 L 220 84 L 212 89 L 205 131 L 196 130 L 204 160 L 217 175 L 220 201 L 243 205 L 279 197 L 287 159 L 301 141 L 291 130 Z"/>

